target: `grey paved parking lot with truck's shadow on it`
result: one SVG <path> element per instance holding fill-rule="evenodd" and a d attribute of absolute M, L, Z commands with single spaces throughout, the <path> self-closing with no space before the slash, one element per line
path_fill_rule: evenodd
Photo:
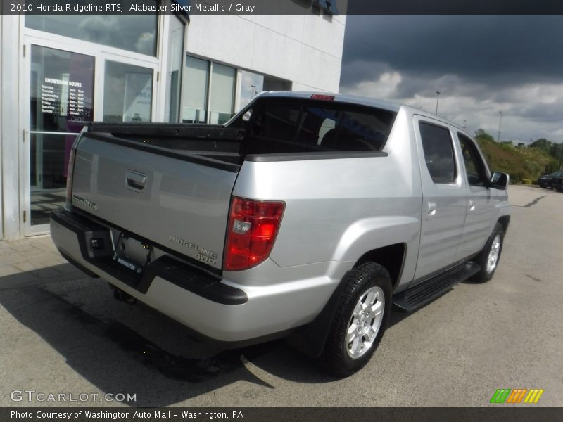
<path fill-rule="evenodd" d="M 144 305 L 113 300 L 49 237 L 0 241 L 0 405 L 485 407 L 498 388 L 538 388 L 538 405 L 562 407 L 563 193 L 509 195 L 494 279 L 393 312 L 371 362 L 341 380 L 282 340 L 230 351 L 198 342 Z M 38 392 L 66 402 L 38 402 Z"/>

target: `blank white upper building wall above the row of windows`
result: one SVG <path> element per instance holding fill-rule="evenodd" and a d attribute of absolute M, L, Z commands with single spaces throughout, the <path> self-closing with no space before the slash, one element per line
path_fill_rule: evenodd
<path fill-rule="evenodd" d="M 338 91 L 346 16 L 191 17 L 187 51 L 288 79 L 293 90 Z"/>

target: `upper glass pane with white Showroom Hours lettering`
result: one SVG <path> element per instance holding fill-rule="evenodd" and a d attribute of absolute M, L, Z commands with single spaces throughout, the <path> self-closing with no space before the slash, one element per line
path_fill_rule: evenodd
<path fill-rule="evenodd" d="M 80 132 L 93 118 L 94 57 L 31 49 L 31 130 Z"/>

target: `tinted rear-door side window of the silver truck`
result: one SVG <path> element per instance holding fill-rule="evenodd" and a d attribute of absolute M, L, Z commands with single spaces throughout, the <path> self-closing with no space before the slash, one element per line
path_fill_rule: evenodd
<path fill-rule="evenodd" d="M 434 183 L 453 183 L 455 162 L 453 144 L 447 127 L 420 122 L 420 136 L 426 167 Z"/>

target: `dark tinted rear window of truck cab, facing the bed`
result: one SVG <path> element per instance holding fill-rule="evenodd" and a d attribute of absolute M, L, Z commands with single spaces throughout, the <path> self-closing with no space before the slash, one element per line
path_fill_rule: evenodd
<path fill-rule="evenodd" d="M 396 113 L 308 101 L 265 101 L 251 134 L 295 143 L 299 151 L 380 151 Z"/>

